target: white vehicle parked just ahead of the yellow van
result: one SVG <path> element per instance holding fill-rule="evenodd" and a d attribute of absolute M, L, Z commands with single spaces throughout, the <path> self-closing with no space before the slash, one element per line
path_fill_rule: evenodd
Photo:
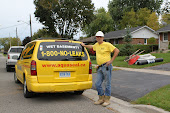
<path fill-rule="evenodd" d="M 24 46 L 11 46 L 7 52 L 6 70 L 9 72 L 11 68 L 15 68 L 15 64 Z"/>

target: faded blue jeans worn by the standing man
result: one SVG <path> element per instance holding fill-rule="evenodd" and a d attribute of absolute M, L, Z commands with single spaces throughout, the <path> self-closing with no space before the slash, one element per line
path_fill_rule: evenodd
<path fill-rule="evenodd" d="M 97 70 L 97 79 L 96 79 L 96 89 L 98 91 L 98 95 L 106 95 L 111 96 L 111 76 L 112 76 L 112 64 L 108 66 L 108 70 L 106 69 L 106 65 L 99 67 Z M 105 80 L 105 92 L 102 88 L 102 83 Z"/>

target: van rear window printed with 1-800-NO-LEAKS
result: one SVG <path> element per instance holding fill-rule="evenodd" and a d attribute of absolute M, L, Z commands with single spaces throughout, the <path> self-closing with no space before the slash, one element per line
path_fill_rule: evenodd
<path fill-rule="evenodd" d="M 87 60 L 87 53 L 79 43 L 42 42 L 39 45 L 39 60 L 49 61 L 81 61 Z"/>

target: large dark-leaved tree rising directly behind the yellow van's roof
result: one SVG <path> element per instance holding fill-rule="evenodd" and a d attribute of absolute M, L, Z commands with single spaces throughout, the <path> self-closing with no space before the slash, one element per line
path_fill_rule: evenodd
<path fill-rule="evenodd" d="M 61 37 L 73 38 L 78 28 L 85 27 L 93 18 L 91 0 L 34 0 L 35 17 L 49 30 Z"/>

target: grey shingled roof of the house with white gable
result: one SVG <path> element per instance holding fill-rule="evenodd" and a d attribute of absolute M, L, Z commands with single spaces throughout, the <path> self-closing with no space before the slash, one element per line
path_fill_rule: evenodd
<path fill-rule="evenodd" d="M 153 29 L 151 29 L 148 26 L 138 26 L 138 27 L 134 27 L 134 28 L 130 28 L 129 31 L 130 33 L 134 33 L 139 31 L 142 28 L 147 28 L 149 30 L 151 30 L 152 32 L 156 33 Z M 123 29 L 123 30 L 118 30 L 118 31 L 112 31 L 109 33 L 105 34 L 105 39 L 117 39 L 117 38 L 123 38 L 127 33 L 127 29 Z"/>

